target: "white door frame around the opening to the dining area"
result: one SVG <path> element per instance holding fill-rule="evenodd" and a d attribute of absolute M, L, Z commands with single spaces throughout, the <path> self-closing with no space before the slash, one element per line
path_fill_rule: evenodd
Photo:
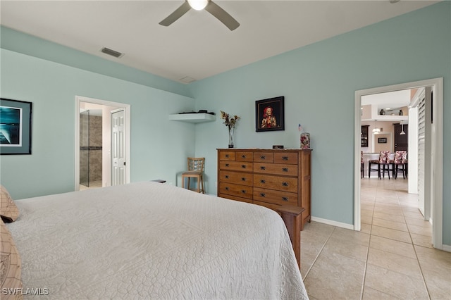
<path fill-rule="evenodd" d="M 433 234 L 432 241 L 434 248 L 445 250 L 443 246 L 443 77 L 429 80 L 420 80 L 416 82 L 406 82 L 398 85 L 389 85 L 385 87 L 375 87 L 371 89 L 362 89 L 355 92 L 354 107 L 354 230 L 361 229 L 360 216 L 360 132 L 361 132 L 361 106 L 362 96 L 370 94 L 381 94 L 384 92 L 395 92 L 402 89 L 415 89 L 419 87 L 431 87 L 433 101 L 433 124 L 431 149 L 433 156 L 431 158 L 431 200 L 433 202 Z M 425 204 L 428 205 L 428 204 Z M 429 204 L 430 205 L 430 204 Z M 450 251 L 449 249 L 446 249 Z"/>

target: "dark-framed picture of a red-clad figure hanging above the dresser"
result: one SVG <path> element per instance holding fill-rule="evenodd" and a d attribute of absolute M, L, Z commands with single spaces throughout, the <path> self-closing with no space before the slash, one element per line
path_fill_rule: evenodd
<path fill-rule="evenodd" d="M 255 101 L 255 131 L 285 130 L 284 101 L 285 96 Z"/>

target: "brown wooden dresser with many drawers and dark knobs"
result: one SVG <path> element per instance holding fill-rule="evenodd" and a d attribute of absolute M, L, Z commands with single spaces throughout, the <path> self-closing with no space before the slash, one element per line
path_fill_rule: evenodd
<path fill-rule="evenodd" d="M 311 149 L 217 149 L 218 196 L 259 204 L 305 208 L 311 219 Z"/>

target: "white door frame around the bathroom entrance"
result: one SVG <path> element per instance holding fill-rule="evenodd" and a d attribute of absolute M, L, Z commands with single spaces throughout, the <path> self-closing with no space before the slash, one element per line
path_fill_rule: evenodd
<path fill-rule="evenodd" d="M 75 182 L 74 190 L 80 190 L 80 102 L 87 102 L 92 104 L 99 104 L 105 106 L 116 106 L 124 110 L 125 113 L 125 183 L 130 183 L 130 104 L 123 104 L 118 102 L 106 101 L 101 99 L 94 99 L 85 96 L 75 96 Z M 110 160 L 111 162 L 111 160 Z"/>

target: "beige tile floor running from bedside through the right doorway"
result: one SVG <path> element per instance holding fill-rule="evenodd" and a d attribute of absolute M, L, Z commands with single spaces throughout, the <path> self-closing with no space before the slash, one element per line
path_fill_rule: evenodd
<path fill-rule="evenodd" d="M 407 180 L 362 179 L 362 231 L 307 223 L 301 273 L 310 299 L 451 299 L 451 253 L 433 249 Z"/>

